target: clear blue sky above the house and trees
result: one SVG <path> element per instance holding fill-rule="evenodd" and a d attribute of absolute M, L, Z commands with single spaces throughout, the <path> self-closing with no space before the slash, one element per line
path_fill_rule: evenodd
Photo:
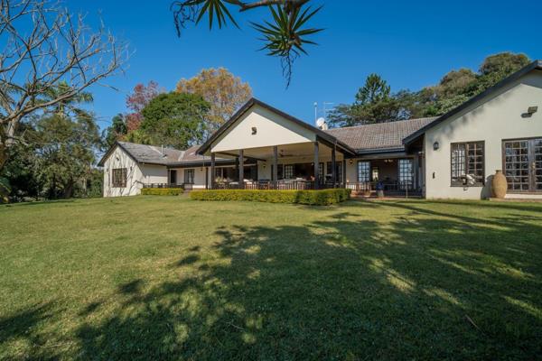
<path fill-rule="evenodd" d="M 542 2 L 313 2 L 324 5 L 313 24 L 326 30 L 313 37 L 320 45 L 295 62 L 286 89 L 279 60 L 257 51 L 261 43 L 248 26 L 265 18 L 265 11 L 238 17 L 241 30 L 210 32 L 202 23 L 178 38 L 170 1 L 70 0 L 70 8 L 88 14 L 90 23 L 99 12 L 134 51 L 126 75 L 107 82 L 119 92 L 91 88 L 100 125 L 126 111 L 126 94 L 135 84 L 153 79 L 171 90 L 203 68 L 225 67 L 248 81 L 255 97 L 313 123 L 315 101 L 351 102 L 369 73 L 387 79 L 394 91 L 415 90 L 435 84 L 450 69 L 478 69 L 485 56 L 500 51 L 542 59 Z"/>

